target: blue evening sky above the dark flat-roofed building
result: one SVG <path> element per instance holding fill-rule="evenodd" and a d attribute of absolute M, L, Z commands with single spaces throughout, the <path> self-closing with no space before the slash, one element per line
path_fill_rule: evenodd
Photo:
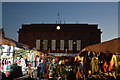
<path fill-rule="evenodd" d="M 118 2 L 3 2 L 2 26 L 6 36 L 18 40 L 24 23 L 61 21 L 98 24 L 101 41 L 118 37 Z"/>

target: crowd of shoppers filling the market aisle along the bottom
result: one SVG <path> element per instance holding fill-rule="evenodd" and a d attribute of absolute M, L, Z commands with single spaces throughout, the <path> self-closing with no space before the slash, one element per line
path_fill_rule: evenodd
<path fill-rule="evenodd" d="M 111 62 L 111 60 L 113 60 L 112 53 L 105 55 L 102 53 L 96 54 L 92 52 L 90 53 L 84 52 L 81 53 L 79 56 L 82 58 L 81 59 L 78 58 L 75 59 L 75 57 L 41 58 L 37 56 L 35 59 L 36 70 L 33 70 L 31 65 L 27 65 L 26 66 L 27 76 L 33 78 L 34 80 L 120 79 L 120 76 L 116 77 L 113 74 L 115 71 L 114 69 L 112 69 L 113 68 L 112 63 L 113 61 Z M 18 61 L 16 61 L 14 64 L 11 64 L 10 72 L 7 75 L 6 79 L 12 80 L 15 78 L 26 76 L 25 74 L 23 74 L 22 65 L 19 65 Z M 104 73 L 108 73 L 108 75 L 106 76 Z"/>

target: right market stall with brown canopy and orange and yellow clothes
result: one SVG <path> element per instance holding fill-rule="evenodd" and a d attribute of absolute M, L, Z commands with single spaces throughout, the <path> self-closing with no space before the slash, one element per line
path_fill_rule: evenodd
<path fill-rule="evenodd" d="M 90 53 L 93 53 L 93 55 Z M 80 51 L 80 56 L 85 54 L 88 55 L 87 57 L 91 57 L 91 60 L 97 61 L 92 63 L 98 64 L 99 68 L 102 67 L 104 73 L 108 72 L 107 76 L 114 75 L 116 78 L 120 74 L 120 38 L 87 46 Z"/>

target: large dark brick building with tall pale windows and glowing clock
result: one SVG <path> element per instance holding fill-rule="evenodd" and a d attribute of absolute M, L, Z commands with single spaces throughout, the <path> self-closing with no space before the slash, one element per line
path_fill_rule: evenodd
<path fill-rule="evenodd" d="M 19 42 L 48 53 L 78 53 L 101 42 L 97 24 L 23 24 Z"/>

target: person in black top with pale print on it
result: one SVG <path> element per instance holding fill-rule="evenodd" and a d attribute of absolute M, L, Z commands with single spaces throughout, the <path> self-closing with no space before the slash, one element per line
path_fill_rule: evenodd
<path fill-rule="evenodd" d="M 76 80 L 74 57 L 65 63 L 65 77 L 67 80 Z"/>

